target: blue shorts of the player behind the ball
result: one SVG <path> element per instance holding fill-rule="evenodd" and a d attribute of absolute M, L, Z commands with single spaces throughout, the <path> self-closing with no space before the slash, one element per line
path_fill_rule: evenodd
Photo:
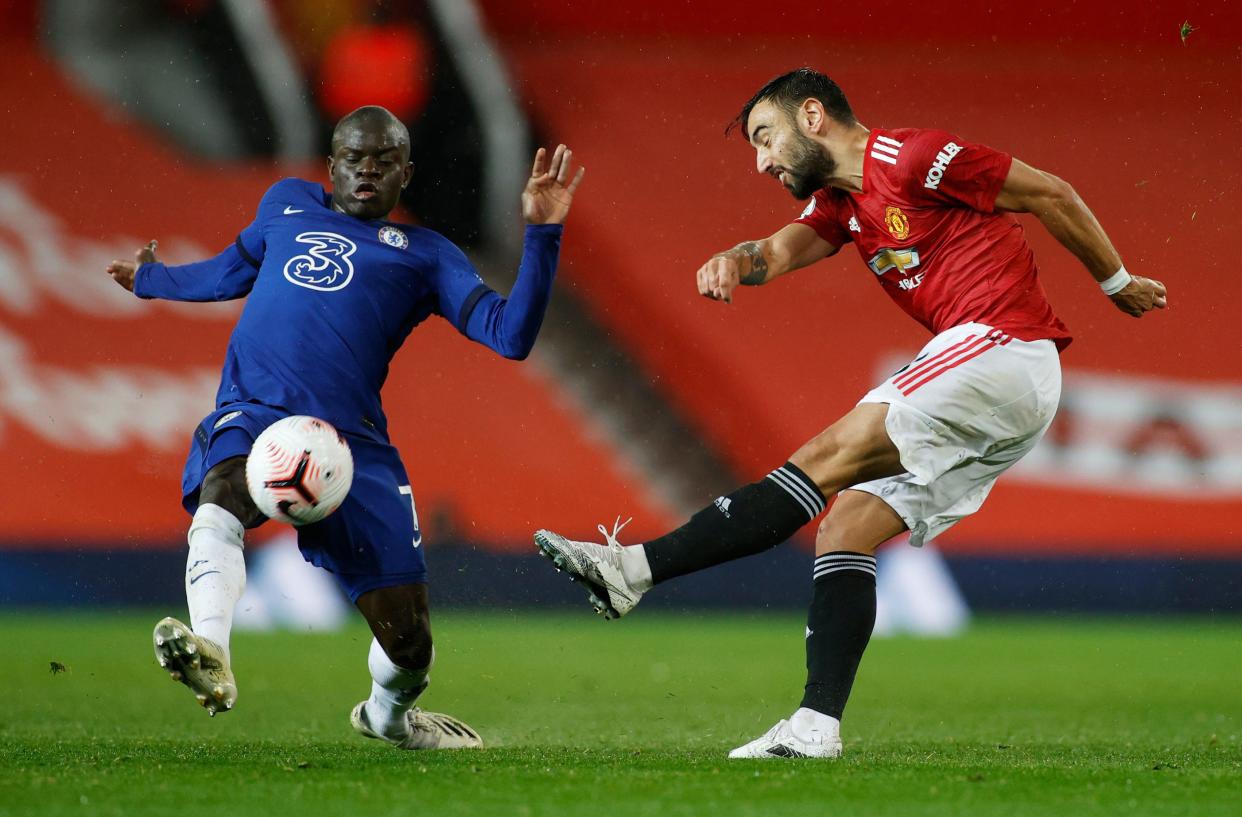
<path fill-rule="evenodd" d="M 250 454 L 260 432 L 288 413 L 235 402 L 207 415 L 194 431 L 181 474 L 185 509 L 191 514 L 197 509 L 199 488 L 209 471 Z M 380 587 L 426 584 L 419 514 L 396 448 L 358 435 L 343 436 L 354 457 L 354 483 L 334 514 L 297 529 L 302 556 L 334 574 L 350 601 Z"/>

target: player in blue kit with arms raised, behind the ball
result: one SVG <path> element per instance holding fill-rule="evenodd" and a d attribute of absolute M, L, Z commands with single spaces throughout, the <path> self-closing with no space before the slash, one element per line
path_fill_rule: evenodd
<path fill-rule="evenodd" d="M 525 358 L 551 294 L 563 223 L 582 168 L 540 148 L 522 192 L 527 221 L 517 282 L 493 292 L 436 232 L 385 221 L 410 183 L 410 135 L 379 107 L 345 115 L 332 137 L 332 191 L 272 185 L 255 221 L 215 258 L 168 267 L 155 242 L 108 273 L 139 298 L 247 297 L 225 356 L 216 410 L 197 426 L 181 478 L 193 514 L 185 591 L 190 626 L 165 618 L 155 656 L 215 715 L 233 706 L 232 612 L 246 584 L 242 539 L 266 520 L 246 489 L 258 433 L 289 415 L 333 423 L 354 457 L 340 509 L 298 529 L 306 559 L 332 571 L 370 625 L 371 695 L 350 721 L 400 749 L 482 745 L 456 718 L 414 706 L 435 658 L 427 570 L 410 479 L 389 442 L 380 387 L 414 327 L 437 314 L 505 358 Z"/>

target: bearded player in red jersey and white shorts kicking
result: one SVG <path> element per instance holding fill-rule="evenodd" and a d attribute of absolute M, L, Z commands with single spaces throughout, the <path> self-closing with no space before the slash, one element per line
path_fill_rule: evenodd
<path fill-rule="evenodd" d="M 1134 317 L 1164 308 L 1158 281 L 1122 266 L 1067 183 L 941 130 L 868 130 L 832 79 L 801 68 L 745 104 L 758 168 L 810 202 L 792 223 L 713 256 L 703 296 L 732 302 L 853 242 L 884 292 L 934 338 L 789 462 L 658 539 L 622 548 L 540 530 L 544 555 L 622 616 L 653 585 L 761 553 L 832 509 L 815 543 L 799 709 L 730 757 L 836 757 L 841 714 L 876 621 L 876 549 L 924 541 L 974 513 L 1047 431 L 1068 329 L 1053 314 L 1013 212 L 1030 212 Z"/>

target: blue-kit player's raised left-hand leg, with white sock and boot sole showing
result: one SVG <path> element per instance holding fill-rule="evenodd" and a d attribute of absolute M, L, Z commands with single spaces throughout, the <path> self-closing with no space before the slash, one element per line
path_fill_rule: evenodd
<path fill-rule="evenodd" d="M 262 519 L 246 490 L 245 467 L 245 457 L 233 457 L 202 481 L 185 570 L 190 625 L 164 618 L 152 634 L 160 667 L 189 687 L 210 715 L 237 703 L 229 633 L 233 607 L 246 589 L 245 528 Z"/>

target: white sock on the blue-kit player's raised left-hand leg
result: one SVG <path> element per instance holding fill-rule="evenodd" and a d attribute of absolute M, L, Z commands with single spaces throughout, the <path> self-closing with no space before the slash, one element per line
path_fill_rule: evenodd
<path fill-rule="evenodd" d="M 211 503 L 199 505 L 190 523 L 190 553 L 185 561 L 190 628 L 220 644 L 226 657 L 233 607 L 246 590 L 243 534 L 237 517 Z"/>

